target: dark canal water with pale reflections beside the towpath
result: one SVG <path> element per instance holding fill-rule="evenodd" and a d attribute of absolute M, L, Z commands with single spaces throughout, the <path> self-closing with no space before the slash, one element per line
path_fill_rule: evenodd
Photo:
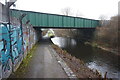
<path fill-rule="evenodd" d="M 115 54 L 85 45 L 73 38 L 55 37 L 51 40 L 71 55 L 83 60 L 93 71 L 98 70 L 102 76 L 107 72 L 108 78 L 120 79 L 120 64 L 118 62 L 120 58 Z"/>

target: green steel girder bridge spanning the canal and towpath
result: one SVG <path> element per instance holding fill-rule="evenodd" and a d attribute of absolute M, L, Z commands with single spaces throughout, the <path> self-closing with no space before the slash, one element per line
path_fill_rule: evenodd
<path fill-rule="evenodd" d="M 23 24 L 30 21 L 35 28 L 96 28 L 99 26 L 99 20 L 11 9 L 12 17 L 19 19 L 22 14 L 26 14 L 22 20 Z"/>

